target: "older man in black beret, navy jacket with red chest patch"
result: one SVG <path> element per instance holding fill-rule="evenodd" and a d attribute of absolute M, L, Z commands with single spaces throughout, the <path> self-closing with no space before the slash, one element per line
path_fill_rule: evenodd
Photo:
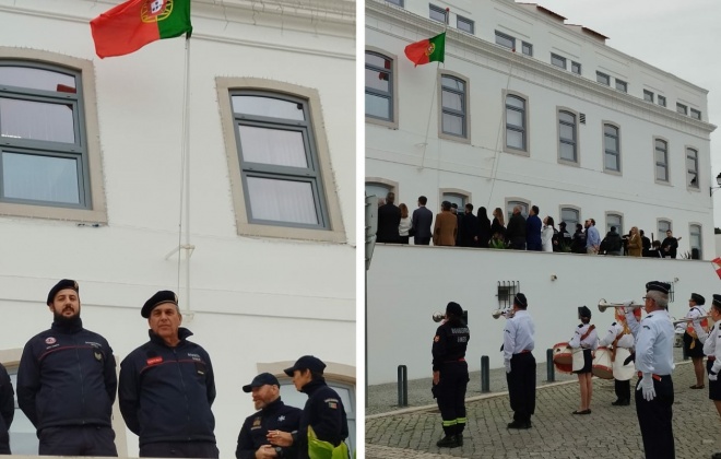
<path fill-rule="evenodd" d="M 215 376 L 208 352 L 187 341 L 174 292 L 161 291 L 141 309 L 150 341 L 120 363 L 120 412 L 138 435 L 140 457 L 217 458 Z"/>

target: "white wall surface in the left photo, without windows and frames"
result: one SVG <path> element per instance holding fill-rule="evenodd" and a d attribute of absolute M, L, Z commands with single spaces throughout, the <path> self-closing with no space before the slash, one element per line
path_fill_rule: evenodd
<path fill-rule="evenodd" d="M 96 106 L 86 108 L 97 113 L 91 119 L 97 138 L 91 140 L 99 145 L 101 211 L 107 216 L 35 219 L 3 210 L 0 308 L 8 320 L 0 350 L 22 348 L 49 327 L 47 292 L 70 278 L 80 283 L 84 325 L 106 337 L 121 360 L 147 340 L 142 304 L 158 290 L 174 290 L 191 340 L 213 360 L 215 433 L 221 455 L 228 457 L 243 419 L 253 412 L 239 387 L 261 368 L 273 364 L 277 373 L 281 364 L 314 354 L 336 377 L 355 380 L 355 4 L 283 8 L 270 1 L 259 9 L 243 0 L 193 1 L 188 220 L 180 215 L 185 39 L 99 59 L 88 22 L 115 4 L 0 2 L 0 58 L 37 51 L 90 62 Z M 323 68 L 333 71 L 317 70 Z M 331 174 L 323 184 L 338 202 L 333 229 L 340 240 L 238 231 L 218 78 L 261 79 L 317 93 L 321 116 L 314 127 L 327 142 Z M 186 242 L 194 246 L 188 271 L 185 254 L 178 260 L 174 251 Z M 133 434 L 128 444 L 135 456 Z"/>

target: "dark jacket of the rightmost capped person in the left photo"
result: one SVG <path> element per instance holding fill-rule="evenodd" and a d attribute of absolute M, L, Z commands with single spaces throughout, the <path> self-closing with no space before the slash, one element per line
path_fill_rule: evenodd
<path fill-rule="evenodd" d="M 341 397 L 328 387 L 326 379 L 318 378 L 300 388 L 308 395 L 297 433 L 298 459 L 308 459 L 308 426 L 318 439 L 338 446 L 348 436 L 348 420 Z"/>

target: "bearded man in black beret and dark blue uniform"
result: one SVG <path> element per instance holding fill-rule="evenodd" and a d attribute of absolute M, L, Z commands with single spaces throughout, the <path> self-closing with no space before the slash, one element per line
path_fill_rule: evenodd
<path fill-rule="evenodd" d="M 52 326 L 25 344 L 17 404 L 37 429 L 40 456 L 118 456 L 115 357 L 105 338 L 83 328 L 79 292 L 69 279 L 50 289 Z"/>

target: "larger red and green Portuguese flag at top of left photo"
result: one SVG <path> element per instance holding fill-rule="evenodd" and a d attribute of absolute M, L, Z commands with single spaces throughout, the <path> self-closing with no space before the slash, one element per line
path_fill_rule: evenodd
<path fill-rule="evenodd" d="M 101 58 L 129 55 L 163 38 L 190 36 L 190 0 L 128 0 L 91 21 Z"/>

